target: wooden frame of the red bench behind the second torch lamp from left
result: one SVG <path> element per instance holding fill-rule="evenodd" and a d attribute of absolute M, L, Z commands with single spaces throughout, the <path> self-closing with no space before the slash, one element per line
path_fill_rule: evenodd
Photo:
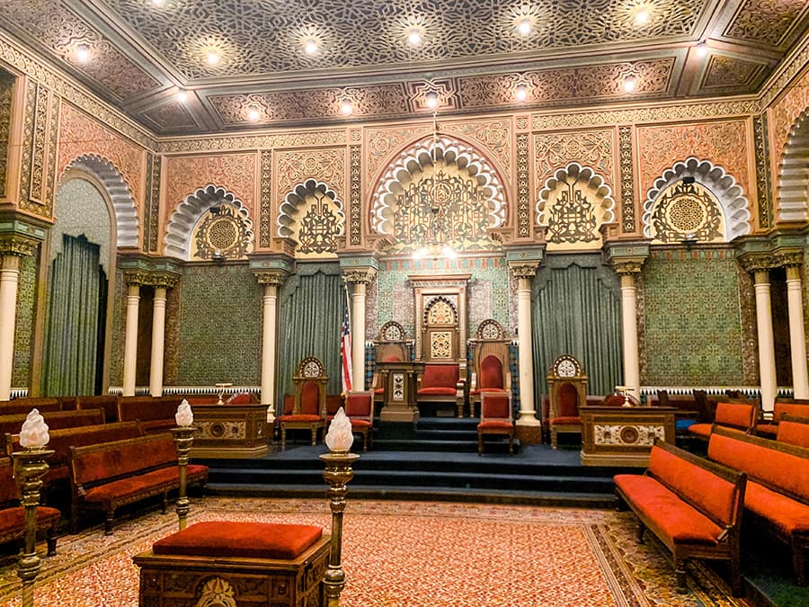
<path fill-rule="evenodd" d="M 118 510 L 118 508 L 120 508 L 120 506 L 127 504 L 134 504 L 135 502 L 139 502 L 154 495 L 162 495 L 163 496 L 162 513 L 166 513 L 169 491 L 172 491 L 173 489 L 177 489 L 180 487 L 180 471 L 179 466 L 177 465 L 176 451 L 174 452 L 175 457 L 173 460 L 166 460 L 159 465 L 137 469 L 137 471 L 134 472 L 126 472 L 126 471 L 122 472 L 120 470 L 113 470 L 111 471 L 110 474 L 106 475 L 105 477 L 96 478 L 93 480 L 86 480 L 85 478 L 80 477 L 76 469 L 76 462 L 78 460 L 81 460 L 82 458 L 88 455 L 92 456 L 93 453 L 97 453 L 98 451 L 115 451 L 115 450 L 122 451 L 124 448 L 130 447 L 132 445 L 138 445 L 138 443 L 143 443 L 144 447 L 148 448 L 148 444 L 150 442 L 165 441 L 165 440 L 173 442 L 172 435 L 169 433 L 160 433 L 160 434 L 155 433 L 155 434 L 147 434 L 145 436 L 141 436 L 138 438 L 125 439 L 123 441 L 101 442 L 98 444 L 87 445 L 84 447 L 70 447 L 70 478 L 72 487 L 72 499 L 70 506 L 71 532 L 75 533 L 78 530 L 79 514 L 82 509 L 101 510 L 105 514 L 104 520 L 105 535 L 111 535 L 112 523 L 115 518 L 115 512 L 116 510 Z M 177 476 L 171 479 L 165 479 L 162 477 L 150 478 L 157 476 L 154 473 L 168 468 L 176 468 Z M 189 467 L 186 478 L 187 482 L 188 483 L 199 482 L 204 487 L 208 482 L 208 467 L 206 466 L 202 468 L 204 468 L 204 470 L 195 471 L 192 470 L 191 467 Z M 150 482 L 148 486 L 145 486 L 143 489 L 138 491 L 137 494 L 112 497 L 110 500 L 109 507 L 106 507 L 104 504 L 87 502 L 84 499 L 88 491 L 92 490 L 95 487 L 109 485 L 111 483 L 115 483 L 125 478 L 132 478 L 132 477 L 146 478 Z"/>

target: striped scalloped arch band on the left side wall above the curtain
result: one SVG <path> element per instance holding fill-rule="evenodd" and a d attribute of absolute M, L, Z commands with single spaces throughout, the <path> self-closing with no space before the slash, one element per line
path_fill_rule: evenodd
<path fill-rule="evenodd" d="M 138 246 L 138 210 L 129 185 L 118 167 L 97 154 L 85 154 L 70 162 L 68 168 L 89 173 L 102 183 L 115 213 L 116 244 L 119 248 Z"/>

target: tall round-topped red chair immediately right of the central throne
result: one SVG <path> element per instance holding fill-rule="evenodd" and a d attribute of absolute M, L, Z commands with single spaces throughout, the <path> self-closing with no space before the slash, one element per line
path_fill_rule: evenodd
<path fill-rule="evenodd" d="M 509 343 L 502 325 L 487 318 L 478 327 L 474 339 L 469 340 L 472 356 L 472 377 L 469 384 L 469 416 L 475 416 L 475 406 L 480 405 L 483 392 L 505 393 L 511 391 L 509 369 Z"/>

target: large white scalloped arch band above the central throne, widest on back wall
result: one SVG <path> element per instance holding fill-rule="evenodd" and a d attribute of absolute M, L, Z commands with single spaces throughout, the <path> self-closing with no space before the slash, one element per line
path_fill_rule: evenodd
<path fill-rule="evenodd" d="M 441 159 L 447 165 L 457 166 L 458 170 L 475 178 L 478 185 L 485 188 L 486 201 L 490 205 L 490 228 L 499 228 L 505 224 L 503 188 L 493 166 L 474 147 L 465 145 L 458 139 L 440 136 L 438 139 L 422 138 L 388 165 L 387 172 L 379 178 L 371 198 L 371 231 L 393 234 L 391 220 L 396 212 L 396 196 L 405 191 L 406 183 L 412 182 L 417 174 L 432 164 L 433 154 L 436 160 Z"/>

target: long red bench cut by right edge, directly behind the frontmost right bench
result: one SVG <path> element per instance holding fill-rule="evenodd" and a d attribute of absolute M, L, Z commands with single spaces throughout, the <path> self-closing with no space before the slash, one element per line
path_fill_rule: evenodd
<path fill-rule="evenodd" d="M 744 520 L 792 549 L 798 585 L 805 585 L 809 549 L 809 449 L 757 436 L 717 430 L 708 457 L 747 473 Z"/>

